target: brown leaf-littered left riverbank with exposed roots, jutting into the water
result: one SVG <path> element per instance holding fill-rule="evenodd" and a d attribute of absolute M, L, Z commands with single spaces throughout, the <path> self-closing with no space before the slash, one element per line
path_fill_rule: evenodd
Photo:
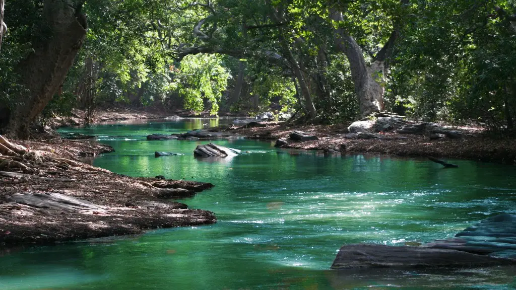
<path fill-rule="evenodd" d="M 216 222 L 212 212 L 170 201 L 193 196 L 212 184 L 131 178 L 77 159 L 84 152 L 94 156 L 112 151 L 99 143 L 63 139 L 16 143 L 26 150 L 18 146 L 13 148 L 17 154 L 0 154 L 0 245 Z"/>

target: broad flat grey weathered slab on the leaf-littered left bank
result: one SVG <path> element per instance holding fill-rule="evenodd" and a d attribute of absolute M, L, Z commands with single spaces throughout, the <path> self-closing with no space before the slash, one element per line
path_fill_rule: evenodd
<path fill-rule="evenodd" d="M 26 204 L 32 207 L 49 208 L 67 212 L 103 211 L 105 207 L 89 201 L 58 194 L 55 192 L 14 194 L 7 198 L 8 202 Z"/>

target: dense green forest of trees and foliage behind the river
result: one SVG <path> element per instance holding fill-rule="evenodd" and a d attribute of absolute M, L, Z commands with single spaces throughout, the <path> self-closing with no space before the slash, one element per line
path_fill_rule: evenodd
<path fill-rule="evenodd" d="M 392 111 L 512 132 L 513 0 L 2 0 L 0 127 L 72 107 Z M 5 8 L 5 10 L 4 10 Z M 87 121 L 87 120 L 86 120 Z"/>

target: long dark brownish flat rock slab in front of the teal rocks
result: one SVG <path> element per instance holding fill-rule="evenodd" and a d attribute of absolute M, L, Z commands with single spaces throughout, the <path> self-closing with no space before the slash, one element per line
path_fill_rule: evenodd
<path fill-rule="evenodd" d="M 332 269 L 349 268 L 436 268 L 516 265 L 516 260 L 477 255 L 448 249 L 396 247 L 376 244 L 343 246 Z"/>

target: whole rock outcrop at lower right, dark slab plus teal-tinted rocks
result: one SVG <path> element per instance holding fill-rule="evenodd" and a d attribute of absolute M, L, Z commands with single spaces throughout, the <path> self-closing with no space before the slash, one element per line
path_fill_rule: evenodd
<path fill-rule="evenodd" d="M 516 265 L 516 215 L 482 220 L 450 239 L 420 247 L 375 244 L 345 245 L 332 269 L 480 267 Z"/>

